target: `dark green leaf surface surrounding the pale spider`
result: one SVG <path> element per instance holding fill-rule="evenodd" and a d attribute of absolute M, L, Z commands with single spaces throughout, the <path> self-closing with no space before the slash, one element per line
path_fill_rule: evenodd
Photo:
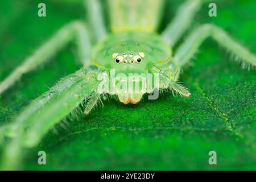
<path fill-rule="evenodd" d="M 84 18 L 79 2 L 44 2 L 46 18 L 37 15 L 39 1 L 0 2 L 0 80 L 65 23 Z M 161 28 L 180 1 L 168 4 Z M 204 5 L 192 27 L 217 24 L 256 53 L 256 1 L 218 1 L 216 18 L 208 10 Z M 44 69 L 24 75 L 2 95 L 0 123 L 79 69 L 76 62 L 72 43 Z M 180 80 L 191 97 L 165 93 L 133 107 L 105 102 L 68 130 L 57 125 L 26 152 L 24 169 L 256 169 L 255 70 L 242 70 L 208 39 Z M 46 166 L 37 163 L 39 150 L 47 153 Z M 216 166 L 208 164 L 211 150 L 217 152 Z"/>

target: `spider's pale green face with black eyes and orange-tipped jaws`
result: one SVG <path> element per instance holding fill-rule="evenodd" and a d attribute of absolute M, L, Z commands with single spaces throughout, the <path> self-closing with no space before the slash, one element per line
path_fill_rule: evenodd
<path fill-rule="evenodd" d="M 145 93 L 142 90 L 142 86 L 146 85 L 146 73 L 148 72 L 145 56 L 144 52 L 133 51 L 112 55 L 115 84 L 121 86 L 121 89 L 117 86 L 115 90 L 119 101 L 123 104 L 137 104 Z"/>

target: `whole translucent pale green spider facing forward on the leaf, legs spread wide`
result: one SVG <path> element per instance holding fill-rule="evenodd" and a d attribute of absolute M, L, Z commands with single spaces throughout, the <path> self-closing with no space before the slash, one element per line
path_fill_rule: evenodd
<path fill-rule="evenodd" d="M 185 1 L 172 22 L 159 35 L 156 33 L 156 28 L 161 18 L 164 0 L 108 0 L 112 30 L 109 34 L 104 27 L 101 3 L 96 0 L 85 1 L 86 11 L 93 15 L 89 16 L 89 28 L 95 35 L 93 41 L 89 38 L 89 30 L 84 22 L 80 20 L 71 22 L 61 28 L 1 82 L 0 94 L 10 88 L 24 73 L 45 64 L 68 42 L 77 40 L 78 53 L 84 68 L 62 78 L 48 92 L 26 106 L 13 122 L 0 127 L 0 137 L 10 138 L 9 145 L 3 152 L 5 160 L 2 160 L 2 166 L 13 168 L 14 163 L 9 161 L 18 160 L 19 156 L 16 154 L 21 148 L 36 146 L 49 129 L 69 114 L 76 117 L 77 112 L 81 112 L 76 109 L 77 107 L 82 106 L 84 108 L 82 112 L 88 114 L 108 94 L 117 96 L 123 104 L 137 104 L 143 94 L 152 94 L 158 90 L 171 90 L 181 96 L 190 96 L 188 90 L 178 82 L 180 71 L 208 37 L 212 37 L 222 47 L 234 53 L 244 66 L 255 66 L 256 57 L 253 53 L 213 24 L 204 24 L 193 30 L 172 56 L 171 48 L 191 26 L 193 16 L 204 2 L 207 0 Z M 92 42 L 97 43 L 92 47 Z M 116 89 L 112 93 L 107 89 L 98 92 L 98 86 L 101 84 L 98 76 L 104 73 L 110 77 L 112 69 L 115 73 L 125 76 L 130 73 L 158 75 L 159 82 L 151 85 L 151 88 L 155 89 L 146 91 L 142 91 L 139 86 L 139 92 L 136 93 L 134 90 L 118 92 Z M 124 82 L 126 84 L 127 80 Z M 118 84 L 118 81 L 115 83 Z M 150 96 L 149 99 L 154 99 Z"/>

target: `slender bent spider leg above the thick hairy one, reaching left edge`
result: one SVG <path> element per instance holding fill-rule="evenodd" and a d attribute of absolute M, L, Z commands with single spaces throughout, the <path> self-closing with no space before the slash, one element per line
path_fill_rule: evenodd
<path fill-rule="evenodd" d="M 90 64 L 90 40 L 85 24 L 75 21 L 61 28 L 43 46 L 39 47 L 30 57 L 19 65 L 9 76 L 0 82 L 0 94 L 10 88 L 24 73 L 43 65 L 61 48 L 66 46 L 71 40 L 77 40 L 77 47 L 81 64 Z"/>

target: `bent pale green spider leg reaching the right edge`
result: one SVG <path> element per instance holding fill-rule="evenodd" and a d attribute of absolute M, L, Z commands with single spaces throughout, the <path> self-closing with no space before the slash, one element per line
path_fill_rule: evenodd
<path fill-rule="evenodd" d="M 253 65 L 253 67 L 256 66 L 256 57 L 253 53 L 232 39 L 224 30 L 213 24 L 204 24 L 194 30 L 188 36 L 187 40 L 177 48 L 175 56 L 172 59 L 173 63 L 178 67 L 183 67 L 183 65 L 192 59 L 201 43 L 208 37 L 212 37 L 217 43 L 236 55 L 242 61 L 244 67 L 249 67 L 250 65 Z"/>

